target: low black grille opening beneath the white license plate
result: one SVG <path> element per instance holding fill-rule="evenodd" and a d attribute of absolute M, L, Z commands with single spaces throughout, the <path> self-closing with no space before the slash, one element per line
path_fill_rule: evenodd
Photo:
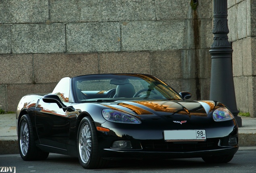
<path fill-rule="evenodd" d="M 188 152 L 207 149 L 217 149 L 219 140 L 207 140 L 202 142 L 165 142 L 165 141 L 142 141 L 142 149 L 147 151 L 172 151 Z"/>

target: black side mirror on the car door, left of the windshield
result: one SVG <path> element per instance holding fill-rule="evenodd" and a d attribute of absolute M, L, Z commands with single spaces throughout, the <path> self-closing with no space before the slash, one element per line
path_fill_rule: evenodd
<path fill-rule="evenodd" d="M 60 97 L 58 97 L 57 95 L 45 95 L 45 96 L 43 96 L 43 102 L 56 103 L 60 109 L 63 109 L 64 112 L 65 111 L 68 111 L 68 112 L 76 111 L 76 109 L 74 109 L 74 107 L 72 107 L 72 106 L 67 107 L 66 105 L 64 105 L 64 103 L 62 103 L 62 101 L 60 100 Z"/>

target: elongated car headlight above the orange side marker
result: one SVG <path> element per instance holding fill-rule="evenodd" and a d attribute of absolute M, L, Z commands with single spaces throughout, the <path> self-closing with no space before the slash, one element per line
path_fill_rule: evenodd
<path fill-rule="evenodd" d="M 103 109 L 102 111 L 103 117 L 107 121 L 115 122 L 115 123 L 132 123 L 132 124 L 140 124 L 140 121 L 133 117 L 132 115 L 111 110 L 111 109 Z"/>

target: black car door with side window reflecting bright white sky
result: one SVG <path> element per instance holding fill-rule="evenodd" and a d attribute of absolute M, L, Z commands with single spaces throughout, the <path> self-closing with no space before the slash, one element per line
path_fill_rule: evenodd
<path fill-rule="evenodd" d="M 70 78 L 63 78 L 52 94 L 58 95 L 65 105 L 70 92 Z M 35 124 L 41 145 L 66 149 L 70 135 L 70 116 L 56 103 L 45 103 L 39 99 L 36 107 Z"/>

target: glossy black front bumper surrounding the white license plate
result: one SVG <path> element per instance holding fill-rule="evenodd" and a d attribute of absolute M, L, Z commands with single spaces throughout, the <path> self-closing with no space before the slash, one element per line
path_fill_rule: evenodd
<path fill-rule="evenodd" d="M 117 126 L 116 124 L 114 125 Z M 187 129 L 197 128 L 205 129 L 206 141 L 166 142 L 163 139 L 163 129 L 168 129 L 167 126 L 154 129 L 135 125 L 115 128 L 109 126 L 109 129 L 112 129 L 111 133 L 98 132 L 99 149 L 105 159 L 195 158 L 234 155 L 237 152 L 238 128 L 234 121 L 218 123 L 218 127 L 214 125 L 187 127 Z M 112 149 L 114 141 L 130 141 L 132 149 Z"/>

